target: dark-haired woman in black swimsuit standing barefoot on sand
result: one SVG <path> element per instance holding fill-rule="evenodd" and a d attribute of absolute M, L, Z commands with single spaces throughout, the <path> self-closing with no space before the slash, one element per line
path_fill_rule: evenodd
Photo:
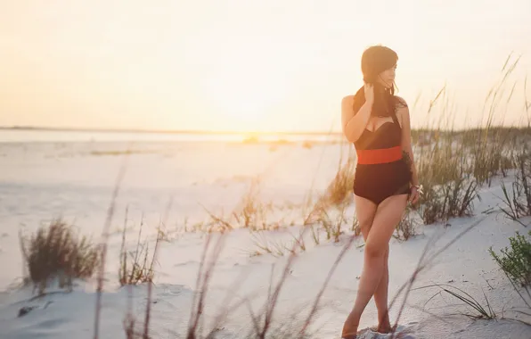
<path fill-rule="evenodd" d="M 389 240 L 407 203 L 419 200 L 407 103 L 394 95 L 398 57 L 388 47 L 369 47 L 362 55 L 364 87 L 341 103 L 343 133 L 354 143 L 355 211 L 364 236 L 364 270 L 342 338 L 356 337 L 374 295 L 378 332 L 392 330 L 388 316 Z"/>

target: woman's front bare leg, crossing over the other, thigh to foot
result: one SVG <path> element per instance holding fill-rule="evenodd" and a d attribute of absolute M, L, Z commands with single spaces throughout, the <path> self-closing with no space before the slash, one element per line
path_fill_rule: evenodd
<path fill-rule="evenodd" d="M 357 332 L 362 313 L 380 285 L 380 280 L 384 276 L 385 257 L 389 240 L 395 231 L 396 225 L 402 219 L 406 203 L 407 194 L 401 194 L 388 197 L 378 206 L 372 221 L 371 230 L 365 242 L 364 269 L 360 278 L 355 305 L 343 326 L 343 337 L 354 337 L 352 335 Z M 387 284 L 385 285 L 385 290 L 387 291 Z M 387 313 L 387 305 L 385 309 Z"/>

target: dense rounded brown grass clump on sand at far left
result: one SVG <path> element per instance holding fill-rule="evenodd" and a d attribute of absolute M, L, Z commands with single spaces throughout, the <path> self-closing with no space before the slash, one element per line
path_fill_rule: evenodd
<path fill-rule="evenodd" d="M 97 246 L 61 219 L 39 227 L 29 238 L 20 235 L 20 248 L 29 273 L 25 283 L 32 283 L 38 294 L 45 293 L 53 278 L 59 278 L 61 288 L 71 289 L 73 279 L 92 277 L 100 262 Z"/>

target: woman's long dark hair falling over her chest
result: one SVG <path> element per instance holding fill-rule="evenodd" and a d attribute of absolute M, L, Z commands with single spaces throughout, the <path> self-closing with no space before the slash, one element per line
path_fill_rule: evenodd
<path fill-rule="evenodd" d="M 374 86 L 374 103 L 372 116 L 391 116 L 396 111 L 396 104 L 400 103 L 395 96 L 395 86 L 385 88 L 378 82 L 378 76 L 384 70 L 396 65 L 398 55 L 392 49 L 383 45 L 373 45 L 362 54 L 362 73 L 364 83 Z M 354 112 L 365 103 L 364 87 L 358 89 L 354 96 Z"/>

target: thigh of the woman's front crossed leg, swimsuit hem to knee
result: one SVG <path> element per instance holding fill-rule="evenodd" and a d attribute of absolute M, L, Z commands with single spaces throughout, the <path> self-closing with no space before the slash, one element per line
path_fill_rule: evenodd
<path fill-rule="evenodd" d="M 407 194 L 389 196 L 378 205 L 372 220 L 371 232 L 365 241 L 367 246 L 379 249 L 388 248 L 389 240 L 404 215 L 406 205 Z"/>

